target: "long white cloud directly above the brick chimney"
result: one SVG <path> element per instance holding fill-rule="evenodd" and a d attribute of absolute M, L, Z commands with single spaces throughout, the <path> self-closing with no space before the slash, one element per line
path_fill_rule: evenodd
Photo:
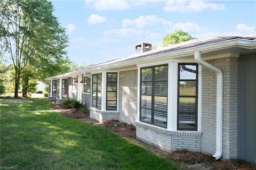
<path fill-rule="evenodd" d="M 160 24 L 170 26 L 172 22 L 159 18 L 156 15 L 147 15 L 147 16 L 141 15 L 139 16 L 139 18 L 135 20 L 124 19 L 122 21 L 122 26 L 124 28 L 129 26 L 134 26 L 137 28 L 146 28 L 146 27 L 152 27 L 153 25 L 160 25 Z"/>

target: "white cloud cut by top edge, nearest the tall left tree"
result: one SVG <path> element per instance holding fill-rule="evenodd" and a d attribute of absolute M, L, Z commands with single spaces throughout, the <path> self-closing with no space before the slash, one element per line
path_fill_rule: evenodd
<path fill-rule="evenodd" d="M 122 11 L 127 10 L 131 7 L 130 4 L 124 0 L 86 0 L 85 2 L 87 6 L 92 6 L 97 11 Z"/>

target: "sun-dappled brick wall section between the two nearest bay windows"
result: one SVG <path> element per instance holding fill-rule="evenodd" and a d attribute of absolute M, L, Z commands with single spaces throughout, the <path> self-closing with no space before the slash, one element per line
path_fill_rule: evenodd
<path fill-rule="evenodd" d="M 137 118 L 138 70 L 119 72 L 119 120 L 134 124 Z"/>

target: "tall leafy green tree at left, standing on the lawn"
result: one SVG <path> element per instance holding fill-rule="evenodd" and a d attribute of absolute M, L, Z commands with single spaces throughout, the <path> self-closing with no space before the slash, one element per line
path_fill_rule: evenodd
<path fill-rule="evenodd" d="M 53 16 L 51 2 L 4 0 L 0 14 L 1 48 L 7 50 L 15 70 L 14 97 L 18 97 L 22 77 L 22 91 L 26 94 L 26 79 L 31 77 L 27 70 L 35 71 L 42 79 L 67 71 L 63 64 L 68 62 L 68 37 Z"/>

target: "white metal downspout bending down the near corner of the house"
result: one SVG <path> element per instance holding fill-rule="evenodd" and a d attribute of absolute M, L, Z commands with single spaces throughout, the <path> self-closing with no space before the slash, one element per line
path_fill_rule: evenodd
<path fill-rule="evenodd" d="M 206 63 L 201 58 L 201 52 L 195 52 L 195 61 L 212 70 L 217 75 L 217 116 L 216 116 L 216 152 L 213 157 L 217 160 L 222 155 L 222 95 L 223 95 L 223 74 L 220 69 L 214 67 L 213 65 Z"/>

